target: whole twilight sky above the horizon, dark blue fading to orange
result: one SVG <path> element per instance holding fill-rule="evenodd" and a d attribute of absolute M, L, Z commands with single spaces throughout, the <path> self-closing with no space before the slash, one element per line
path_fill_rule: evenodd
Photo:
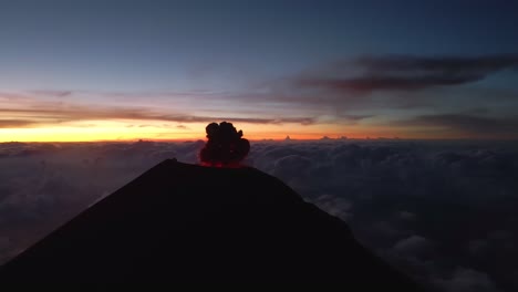
<path fill-rule="evenodd" d="M 518 138 L 516 1 L 1 1 L 0 142 Z"/>

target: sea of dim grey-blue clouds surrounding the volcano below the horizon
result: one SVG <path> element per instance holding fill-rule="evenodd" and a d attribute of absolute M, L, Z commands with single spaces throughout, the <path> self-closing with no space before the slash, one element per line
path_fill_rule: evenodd
<path fill-rule="evenodd" d="M 0 263 L 204 142 L 0 144 Z M 437 291 L 518 291 L 518 143 L 255 142 L 246 164 Z"/>

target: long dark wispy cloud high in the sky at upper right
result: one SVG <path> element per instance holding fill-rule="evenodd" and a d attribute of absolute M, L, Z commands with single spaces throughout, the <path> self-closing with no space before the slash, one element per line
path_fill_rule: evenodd
<path fill-rule="evenodd" d="M 302 88 L 370 93 L 374 91 L 419 91 L 477 82 L 488 75 L 518 66 L 518 55 L 488 56 L 365 56 L 338 62 L 323 76 L 302 76 L 294 84 Z M 353 76 L 346 70 L 359 71 Z"/>

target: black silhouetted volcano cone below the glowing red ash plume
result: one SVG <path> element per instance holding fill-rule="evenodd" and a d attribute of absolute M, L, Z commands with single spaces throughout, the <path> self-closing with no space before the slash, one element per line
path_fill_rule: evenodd
<path fill-rule="evenodd" d="M 0 269 L 0 282 L 73 281 L 419 290 L 359 244 L 345 222 L 279 179 L 176 160 L 153 167 Z"/>

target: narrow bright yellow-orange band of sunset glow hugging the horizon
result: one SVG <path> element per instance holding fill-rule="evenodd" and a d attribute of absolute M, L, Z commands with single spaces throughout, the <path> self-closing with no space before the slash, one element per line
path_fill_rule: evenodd
<path fill-rule="evenodd" d="M 206 123 L 164 123 L 164 121 L 81 121 L 59 125 L 48 124 L 28 127 L 0 128 L 0 143 L 68 143 L 68 142 L 184 142 L 205 139 Z M 231 121 L 229 121 L 231 122 Z M 442 133 L 439 128 L 411 131 L 374 125 L 338 125 L 338 124 L 250 124 L 235 123 L 237 129 L 244 131 L 249 140 L 283 140 L 287 136 L 297 140 L 315 140 L 327 136 L 352 139 L 365 138 L 402 138 L 402 139 L 469 139 L 468 135 Z M 397 132 L 396 132 L 397 131 Z M 485 137 L 495 139 L 497 137 Z"/>

